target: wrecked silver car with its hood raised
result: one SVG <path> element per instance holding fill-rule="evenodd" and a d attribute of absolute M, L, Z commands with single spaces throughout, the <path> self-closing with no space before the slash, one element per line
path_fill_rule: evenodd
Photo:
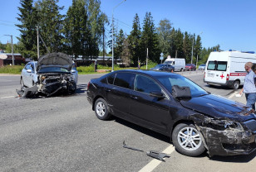
<path fill-rule="evenodd" d="M 64 53 L 43 55 L 37 62 L 29 62 L 22 69 L 22 97 L 42 95 L 50 97 L 55 93 L 75 93 L 76 74 L 71 73 L 73 62 Z"/>

